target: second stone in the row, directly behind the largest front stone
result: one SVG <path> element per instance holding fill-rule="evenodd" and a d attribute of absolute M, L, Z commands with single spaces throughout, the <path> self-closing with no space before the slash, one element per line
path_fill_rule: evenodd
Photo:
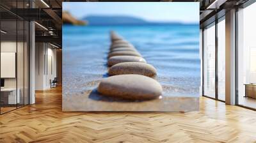
<path fill-rule="evenodd" d="M 147 63 L 140 62 L 125 62 L 118 63 L 111 66 L 108 71 L 109 75 L 125 75 L 125 74 L 137 74 L 145 75 L 147 77 L 154 77 L 156 75 L 156 68 Z"/>

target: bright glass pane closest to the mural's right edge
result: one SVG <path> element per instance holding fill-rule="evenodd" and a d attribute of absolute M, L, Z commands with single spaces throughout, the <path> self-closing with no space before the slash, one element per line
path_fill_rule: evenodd
<path fill-rule="evenodd" d="M 204 95 L 215 98 L 215 26 L 204 29 Z"/>

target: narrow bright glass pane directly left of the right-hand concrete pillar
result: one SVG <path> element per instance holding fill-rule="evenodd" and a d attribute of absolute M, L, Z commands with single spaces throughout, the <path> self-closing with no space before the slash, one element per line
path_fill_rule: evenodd
<path fill-rule="evenodd" d="M 218 22 L 218 99 L 225 101 L 225 19 Z"/>

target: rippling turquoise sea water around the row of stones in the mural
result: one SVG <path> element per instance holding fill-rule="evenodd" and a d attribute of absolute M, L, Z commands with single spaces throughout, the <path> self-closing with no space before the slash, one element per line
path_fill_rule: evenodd
<path fill-rule="evenodd" d="M 164 96 L 198 96 L 199 27 L 63 26 L 63 92 L 84 93 L 108 77 L 109 31 L 114 30 L 157 69 Z"/>

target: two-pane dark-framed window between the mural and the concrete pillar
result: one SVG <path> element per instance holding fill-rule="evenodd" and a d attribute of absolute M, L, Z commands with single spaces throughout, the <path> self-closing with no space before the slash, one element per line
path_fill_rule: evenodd
<path fill-rule="evenodd" d="M 225 101 L 225 16 L 203 30 L 203 96 Z"/>

